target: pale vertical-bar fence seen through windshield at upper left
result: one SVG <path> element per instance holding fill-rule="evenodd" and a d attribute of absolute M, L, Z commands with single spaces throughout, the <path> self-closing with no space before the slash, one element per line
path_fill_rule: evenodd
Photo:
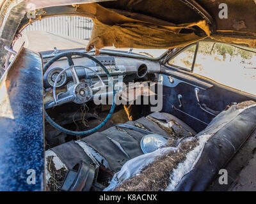
<path fill-rule="evenodd" d="M 33 22 L 24 31 L 46 31 L 53 34 L 89 40 L 92 35 L 93 21 L 91 18 L 65 16 L 50 17 Z"/>

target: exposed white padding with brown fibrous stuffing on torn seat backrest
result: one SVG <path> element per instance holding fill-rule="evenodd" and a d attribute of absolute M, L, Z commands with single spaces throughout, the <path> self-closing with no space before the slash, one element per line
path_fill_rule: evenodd
<path fill-rule="evenodd" d="M 193 169 L 212 135 L 182 140 L 178 147 L 168 144 L 125 163 L 104 191 L 172 191 Z"/>

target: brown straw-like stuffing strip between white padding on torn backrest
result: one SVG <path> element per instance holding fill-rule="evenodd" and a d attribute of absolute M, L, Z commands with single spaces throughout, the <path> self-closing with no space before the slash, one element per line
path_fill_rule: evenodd
<path fill-rule="evenodd" d="M 197 145 L 198 139 L 181 143 L 179 150 L 156 157 L 140 174 L 125 180 L 114 191 L 163 191 L 170 184 L 173 170 L 186 160 L 187 154 Z"/>

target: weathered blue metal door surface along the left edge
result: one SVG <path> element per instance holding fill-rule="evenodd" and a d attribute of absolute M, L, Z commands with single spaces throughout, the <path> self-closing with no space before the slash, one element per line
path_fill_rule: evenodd
<path fill-rule="evenodd" d="M 26 48 L 0 82 L 0 191 L 44 190 L 42 59 Z"/>

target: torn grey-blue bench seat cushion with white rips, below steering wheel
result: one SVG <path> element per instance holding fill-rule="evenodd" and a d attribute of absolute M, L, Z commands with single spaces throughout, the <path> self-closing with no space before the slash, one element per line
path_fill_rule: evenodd
<path fill-rule="evenodd" d="M 147 129 L 173 140 L 196 135 L 192 128 L 169 113 L 155 112 L 125 124 Z M 127 161 L 143 154 L 140 147 L 143 136 L 145 134 L 138 131 L 113 126 L 81 140 L 63 143 L 49 149 L 45 152 L 47 183 L 52 182 L 51 177 L 54 173 L 49 168 L 66 172 L 81 160 L 102 164 L 116 173 Z"/>

